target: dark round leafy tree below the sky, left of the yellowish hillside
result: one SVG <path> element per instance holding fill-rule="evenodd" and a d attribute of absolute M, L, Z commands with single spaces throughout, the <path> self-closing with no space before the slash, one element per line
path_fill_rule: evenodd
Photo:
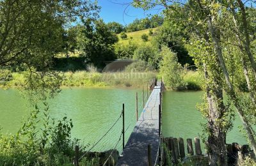
<path fill-rule="evenodd" d="M 115 33 L 99 20 L 85 20 L 84 25 L 77 26 L 77 49 L 81 56 L 86 58 L 87 63 L 104 67 L 104 61 L 113 61 L 115 57 L 114 44 L 118 41 Z"/>

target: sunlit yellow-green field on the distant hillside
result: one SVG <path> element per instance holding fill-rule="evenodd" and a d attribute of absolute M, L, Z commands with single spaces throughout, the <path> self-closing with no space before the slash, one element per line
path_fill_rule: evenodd
<path fill-rule="evenodd" d="M 157 27 L 156 28 L 152 28 L 153 33 L 155 33 L 156 30 L 157 30 Z M 122 40 L 122 38 L 120 38 L 120 34 L 118 34 L 118 38 L 119 38 L 118 43 L 128 44 L 129 40 L 131 40 L 131 37 L 132 37 L 132 41 L 136 41 L 136 43 L 138 43 L 138 44 L 150 43 L 150 41 L 152 40 L 154 34 L 152 36 L 149 36 L 148 33 L 149 33 L 149 29 L 145 29 L 145 30 L 141 30 L 141 31 L 136 31 L 136 32 L 131 32 L 131 33 L 126 33 L 127 34 L 127 39 L 125 39 L 125 40 Z M 141 35 L 142 34 L 147 34 L 148 35 L 148 41 L 144 42 L 141 39 Z"/>

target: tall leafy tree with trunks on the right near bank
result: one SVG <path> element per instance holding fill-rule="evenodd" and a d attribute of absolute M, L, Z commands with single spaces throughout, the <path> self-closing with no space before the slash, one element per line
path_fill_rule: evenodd
<path fill-rule="evenodd" d="M 250 126 L 249 119 L 246 117 L 246 111 L 250 111 L 248 107 L 243 107 L 243 95 L 241 93 L 237 93 L 238 88 L 236 84 L 230 80 L 230 70 L 227 68 L 227 64 L 229 63 L 228 59 L 225 59 L 225 47 L 222 38 L 227 38 L 229 36 L 225 36 L 225 31 L 227 29 L 236 29 L 234 24 L 229 27 L 224 27 L 223 24 L 228 22 L 226 15 L 223 15 L 225 11 L 232 11 L 233 15 L 236 13 L 242 13 L 242 21 L 243 24 L 243 32 L 246 43 L 242 52 L 246 52 L 248 55 L 248 59 L 250 59 L 249 66 L 248 61 L 240 61 L 242 62 L 241 66 L 245 66 L 246 68 L 250 68 L 252 71 L 254 66 L 254 59 L 250 56 L 250 42 L 246 38 L 248 37 L 248 24 L 246 23 L 246 10 L 244 8 L 244 3 L 240 0 L 235 1 L 233 4 L 232 1 L 189 1 L 186 4 L 183 4 L 182 1 L 177 1 L 176 4 L 168 4 L 167 1 L 161 1 L 161 5 L 166 7 L 165 14 L 168 19 L 172 18 L 173 13 L 180 15 L 180 11 L 184 11 L 183 17 L 173 17 L 178 19 L 179 22 L 187 23 L 188 29 L 190 29 L 192 37 L 190 38 L 192 51 L 189 51 L 189 54 L 193 55 L 196 60 L 196 64 L 201 67 L 204 71 L 205 75 L 205 91 L 207 96 L 207 104 L 204 105 L 203 111 L 205 116 L 207 117 L 207 131 L 208 131 L 208 139 L 207 139 L 207 147 L 209 148 L 209 157 L 210 157 L 210 165 L 227 165 L 227 156 L 225 149 L 225 139 L 226 133 L 230 128 L 230 118 L 231 115 L 230 110 L 228 110 L 228 105 L 225 105 L 223 102 L 223 89 L 227 92 L 230 100 L 234 103 L 236 110 L 241 117 L 241 121 L 244 124 L 244 130 L 248 135 L 250 143 L 253 146 L 253 151 L 255 152 L 255 138 L 253 137 L 252 127 Z M 159 1 L 134 1 L 134 5 L 142 6 L 143 8 L 152 8 Z M 246 2 L 245 2 L 246 3 Z M 237 5 L 238 8 L 235 10 L 230 10 L 230 6 Z M 244 13 L 244 14 L 243 14 Z M 227 12 L 226 12 L 227 14 Z M 235 16 L 235 15 L 234 15 Z M 182 21 L 184 20 L 184 21 Z M 233 20 L 237 20 L 236 18 Z M 236 22 L 236 21 L 234 21 Z M 236 23 L 235 23 L 236 24 Z M 239 31 L 237 31 L 237 36 L 239 36 Z M 240 32 L 240 34 L 242 34 Z M 234 35 L 234 34 L 233 34 Z M 241 40 L 240 40 L 241 41 Z M 229 43 L 230 44 L 230 43 Z M 228 53 L 233 53 L 232 51 L 226 51 Z M 243 58 L 243 57 L 242 57 Z M 241 59 L 241 57 L 239 58 Z M 202 65 L 202 66 L 201 66 Z M 248 72 L 246 72 L 246 68 L 244 68 L 244 77 L 249 78 Z M 250 75 L 250 73 L 249 73 Z M 248 81 L 247 81 L 248 82 Z"/>

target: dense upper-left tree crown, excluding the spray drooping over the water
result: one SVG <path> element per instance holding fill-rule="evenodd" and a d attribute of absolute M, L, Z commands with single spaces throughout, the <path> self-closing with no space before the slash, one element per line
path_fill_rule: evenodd
<path fill-rule="evenodd" d="M 90 1 L 0 2 L 0 66 L 12 63 L 44 68 L 61 51 L 63 27 L 77 17 L 94 17 Z M 92 11 L 92 12 L 91 12 Z"/>

